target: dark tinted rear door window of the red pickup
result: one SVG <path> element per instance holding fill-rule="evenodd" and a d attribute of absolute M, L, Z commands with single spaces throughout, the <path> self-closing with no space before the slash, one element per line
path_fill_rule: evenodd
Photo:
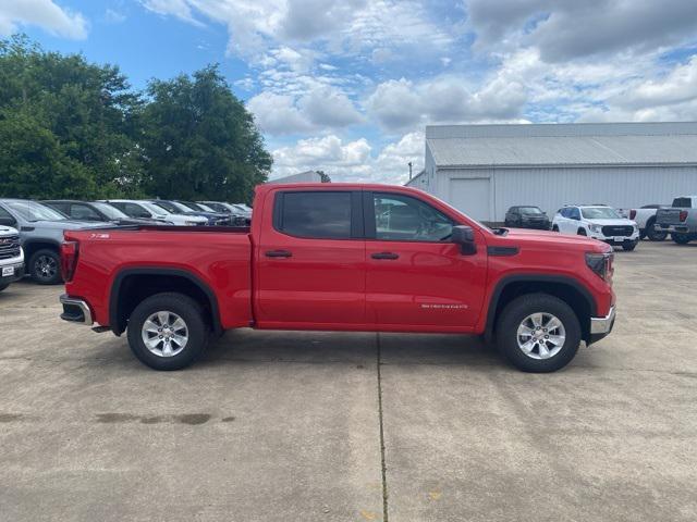
<path fill-rule="evenodd" d="M 279 232 L 313 239 L 352 237 L 352 192 L 290 191 L 277 198 L 274 227 Z"/>

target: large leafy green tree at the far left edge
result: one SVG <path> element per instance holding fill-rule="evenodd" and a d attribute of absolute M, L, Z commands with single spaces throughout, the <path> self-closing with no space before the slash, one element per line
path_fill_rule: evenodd
<path fill-rule="evenodd" d="M 138 194 L 139 103 L 115 66 L 0 40 L 0 196 Z"/>

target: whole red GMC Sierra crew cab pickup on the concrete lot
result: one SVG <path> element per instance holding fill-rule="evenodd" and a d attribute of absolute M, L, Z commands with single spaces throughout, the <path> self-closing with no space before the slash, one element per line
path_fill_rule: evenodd
<path fill-rule="evenodd" d="M 62 319 L 126 332 L 156 370 L 253 327 L 482 335 L 551 372 L 614 323 L 613 253 L 588 237 L 490 229 L 383 185 L 264 185 L 254 209 L 249 228 L 66 232 Z"/>

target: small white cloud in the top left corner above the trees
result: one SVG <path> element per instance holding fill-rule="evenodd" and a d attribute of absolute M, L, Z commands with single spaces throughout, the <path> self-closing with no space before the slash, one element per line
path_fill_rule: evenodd
<path fill-rule="evenodd" d="M 9 36 L 24 25 L 35 25 L 65 38 L 87 37 L 87 21 L 77 12 L 60 8 L 51 0 L 0 2 L 0 36 Z"/>

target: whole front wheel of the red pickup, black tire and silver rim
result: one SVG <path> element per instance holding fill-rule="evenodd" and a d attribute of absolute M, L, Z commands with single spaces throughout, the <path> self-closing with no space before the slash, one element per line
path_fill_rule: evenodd
<path fill-rule="evenodd" d="M 564 368 L 574 358 L 580 325 L 561 299 L 528 294 L 506 304 L 496 335 L 499 351 L 518 370 L 547 373 Z"/>

